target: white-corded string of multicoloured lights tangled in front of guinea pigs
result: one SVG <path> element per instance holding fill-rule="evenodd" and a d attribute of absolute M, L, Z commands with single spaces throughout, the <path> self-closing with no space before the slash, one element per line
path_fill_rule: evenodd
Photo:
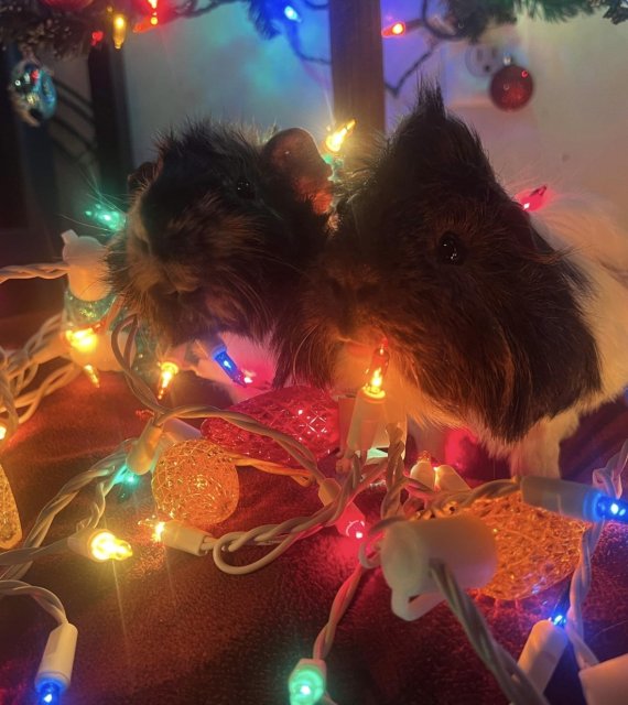
<path fill-rule="evenodd" d="M 94 251 L 97 252 L 97 249 Z M 89 291 L 89 282 L 80 279 L 79 274 L 85 275 L 91 268 L 98 271 L 98 268 L 94 262 L 85 264 L 82 261 L 85 271 L 80 273 L 77 270 L 72 271 L 76 265 L 76 262 L 73 262 L 55 273 L 67 274 L 74 283 L 83 281 L 82 286 L 86 289 L 82 291 Z M 55 270 L 45 265 L 35 265 L 11 270 L 9 274 L 3 270 L 0 276 L 10 278 L 11 274 L 15 274 L 18 278 L 24 278 L 25 274 L 39 273 L 45 276 L 53 271 Z M 99 292 L 94 299 L 98 306 L 104 300 L 100 295 L 102 293 Z M 74 303 L 71 300 L 72 306 Z M 356 553 L 359 545 L 359 562 L 333 600 L 329 618 L 314 642 L 313 658 L 301 660 L 290 676 L 289 691 L 293 705 L 334 703 L 327 692 L 325 659 L 333 648 L 337 626 L 349 609 L 361 577 L 367 571 L 380 565 L 392 590 L 391 608 L 394 612 L 404 619 L 416 619 L 445 600 L 478 655 L 492 671 L 506 696 L 517 705 L 545 703 L 541 694 L 544 684 L 542 679 L 538 677 L 537 664 L 539 659 L 548 660 L 546 650 L 551 640 L 541 640 L 542 646 L 537 650 L 537 655 L 531 658 L 528 650 L 527 658 L 523 659 L 522 655 L 520 664 L 517 664 L 512 657 L 495 642 L 474 601 L 464 592 L 470 587 L 481 590 L 485 586 L 492 586 L 499 578 L 499 542 L 496 541 L 495 530 L 487 523 L 488 520 L 484 519 L 485 510 L 487 505 L 495 507 L 500 502 L 512 502 L 515 499 L 521 502 L 521 507 L 538 508 L 534 509 L 537 523 L 539 511 L 544 510 L 549 517 L 554 518 L 553 521 L 575 521 L 580 522 L 578 527 L 584 527 L 584 530 L 574 530 L 580 536 L 580 555 L 577 563 L 571 566 L 573 577 L 564 633 L 574 646 L 583 684 L 586 681 L 585 672 L 591 671 L 595 675 L 594 670 L 605 665 L 598 664 L 598 660 L 584 641 L 582 605 L 591 585 L 592 555 L 604 523 L 609 520 L 628 521 L 628 503 L 619 499 L 621 473 L 628 462 L 628 442 L 605 468 L 595 471 L 593 487 L 564 480 L 527 477 L 521 480 L 496 480 L 470 489 L 454 468 L 433 465 L 426 456 L 421 456 L 418 464 L 407 471 L 403 462 L 402 425 L 399 423 L 400 420 L 386 419 L 383 411 L 388 352 L 386 344 L 382 343 L 373 351 L 367 382 L 356 395 L 347 438 L 344 443 L 342 441 L 343 447 L 346 448 L 340 464 L 342 471 L 337 478 L 327 477 L 320 470 L 312 449 L 281 430 L 259 423 L 238 411 L 203 405 L 166 405 L 163 395 L 160 399 L 161 388 L 151 386 L 133 368 L 140 323 L 134 316 L 120 318 L 119 307 L 113 313 L 112 307 L 112 302 L 108 301 L 104 318 L 94 325 L 91 333 L 76 338 L 76 333 L 82 328 L 72 327 L 69 330 L 73 336 L 68 338 L 67 326 L 72 325 L 72 322 L 67 315 L 59 315 L 46 322 L 42 330 L 33 336 L 22 350 L 4 354 L 4 358 L 11 364 L 4 366 L 3 409 L 11 415 L 9 409 L 28 406 L 28 412 L 19 417 L 20 421 L 25 421 L 34 413 L 37 400 L 50 393 L 55 384 L 57 388 L 71 381 L 69 377 L 64 376 L 55 382 L 50 382 L 50 378 L 46 378 L 39 389 L 23 392 L 36 379 L 36 367 L 42 361 L 50 361 L 59 355 L 72 360 L 76 351 L 74 346 L 84 346 L 86 338 L 90 340 L 87 352 L 94 351 L 91 336 L 99 338 L 99 345 L 110 347 L 110 354 L 106 357 L 115 360 L 112 369 L 126 375 L 131 391 L 151 414 L 138 438 L 126 441 L 111 455 L 64 485 L 42 509 L 20 547 L 0 553 L 0 595 L 31 595 L 55 617 L 58 625 L 51 632 L 35 679 L 41 703 L 58 703 L 63 692 L 69 686 L 76 628 L 68 622 L 65 609 L 55 595 L 43 587 L 23 583 L 21 578 L 34 561 L 67 551 L 98 562 L 129 558 L 132 555 L 132 546 L 122 538 L 100 527 L 108 495 L 118 485 L 132 484 L 138 476 L 151 474 L 153 494 L 158 499 L 155 478 L 160 471 L 160 464 L 167 464 L 170 453 L 174 454 L 178 463 L 182 449 L 188 452 L 193 447 L 191 444 L 196 444 L 194 447 L 199 447 L 213 466 L 218 463 L 232 465 L 232 474 L 236 465 L 246 464 L 259 466 L 267 471 L 291 475 L 304 486 L 303 491 L 313 491 L 311 485 L 314 485 L 322 507 L 311 516 L 294 517 L 281 523 L 229 532 L 221 536 L 214 536 L 206 528 L 186 521 L 185 517 L 147 520 L 145 523 L 150 525 L 155 539 L 164 545 L 201 556 L 210 555 L 219 570 L 236 576 L 262 570 L 296 542 L 328 527 L 336 527 L 344 535 L 360 542 L 356 544 Z M 116 319 L 118 322 L 110 333 L 109 325 Z M 87 362 L 80 358 L 78 362 L 71 362 L 69 367 L 75 373 L 79 373 L 84 364 Z M 13 394 L 17 397 L 13 398 Z M 20 399 L 22 401 L 19 401 Z M 23 403 L 24 399 L 28 403 Z M 297 468 L 258 460 L 220 448 L 212 444 L 210 437 L 199 438 L 198 432 L 182 421 L 208 417 L 220 419 L 248 433 L 270 438 L 289 454 Z M 14 413 L 12 419 L 14 422 Z M 368 452 L 382 424 L 389 435 L 388 453 L 383 458 L 371 458 Z M 9 430 L 9 426 L 7 429 Z M 380 520 L 368 528 L 354 500 L 365 490 L 380 484 L 385 487 Z M 93 491 L 88 516 L 77 524 L 76 531 L 69 536 L 45 544 L 55 518 L 86 488 L 91 488 Z M 202 497 L 202 500 L 205 501 L 206 498 Z M 515 506 L 505 507 L 504 511 L 513 511 Z M 235 501 L 231 500 L 229 513 L 236 509 L 237 498 Z M 560 514 L 565 519 L 559 519 Z M 588 522 L 588 525 L 583 522 Z M 465 542 L 453 540 L 456 535 L 463 535 L 461 532 L 464 533 Z M 403 541 L 400 538 L 403 538 Z M 464 552 L 459 549 L 461 543 L 465 544 Z M 261 557 L 248 564 L 232 565 L 228 561 L 229 555 L 246 545 L 263 546 L 260 549 L 263 551 Z M 524 550 L 524 546 L 521 550 Z M 552 620 L 551 628 L 560 629 L 559 623 Z M 538 631 L 533 630 L 531 638 Z M 595 691 L 596 686 L 592 685 L 592 681 L 593 676 L 586 681 L 587 693 Z"/>

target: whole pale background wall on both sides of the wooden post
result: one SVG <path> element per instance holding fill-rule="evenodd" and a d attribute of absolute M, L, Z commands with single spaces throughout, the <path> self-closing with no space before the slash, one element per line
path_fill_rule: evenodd
<path fill-rule="evenodd" d="M 415 17 L 416 8 L 416 0 L 382 0 L 382 23 Z M 326 13 L 304 20 L 305 48 L 328 56 Z M 475 124 L 504 180 L 593 191 L 614 200 L 628 225 L 628 22 L 613 25 L 602 13 L 561 24 L 523 18 L 490 37 L 513 47 L 532 73 L 532 101 L 515 113 L 486 99 L 453 107 Z M 419 32 L 386 40 L 389 83 L 424 47 Z M 426 72 L 446 78 L 457 70 L 464 80 L 463 48 L 437 51 Z M 132 35 L 123 51 L 137 162 L 150 155 L 159 129 L 186 116 L 301 124 L 317 137 L 333 122 L 329 72 L 304 65 L 283 36 L 259 39 L 239 3 Z M 410 79 L 399 99 L 388 99 L 389 124 L 412 105 L 415 85 Z"/>

